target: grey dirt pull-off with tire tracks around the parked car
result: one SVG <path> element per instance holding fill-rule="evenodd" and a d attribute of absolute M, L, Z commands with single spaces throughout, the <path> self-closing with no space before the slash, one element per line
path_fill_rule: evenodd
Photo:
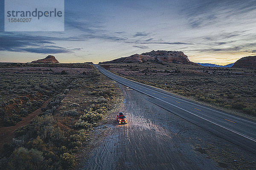
<path fill-rule="evenodd" d="M 120 85 L 128 124 L 112 118 L 95 130 L 79 170 L 254 169 L 255 155 L 149 102 Z M 253 163 L 254 162 L 254 163 Z"/>

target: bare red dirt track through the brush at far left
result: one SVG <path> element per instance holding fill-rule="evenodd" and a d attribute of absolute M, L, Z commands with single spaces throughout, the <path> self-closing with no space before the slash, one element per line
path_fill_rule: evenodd
<path fill-rule="evenodd" d="M 41 108 L 44 108 L 49 103 L 50 99 L 48 99 L 44 104 L 41 106 Z M 18 128 L 25 126 L 31 122 L 32 119 L 35 118 L 35 116 L 38 116 L 42 111 L 41 108 L 38 108 L 33 113 L 29 114 L 27 117 L 23 117 L 20 122 L 17 122 L 15 126 L 10 127 L 0 127 L 0 150 L 2 150 L 3 144 L 10 142 L 12 138 L 14 138 L 14 131 Z"/>

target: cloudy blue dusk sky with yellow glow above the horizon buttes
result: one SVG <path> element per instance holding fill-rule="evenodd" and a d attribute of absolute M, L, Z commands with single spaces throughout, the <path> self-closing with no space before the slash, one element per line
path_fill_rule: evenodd
<path fill-rule="evenodd" d="M 65 31 L 4 31 L 0 62 L 102 62 L 152 50 L 226 65 L 256 55 L 256 0 L 65 0 Z M 48 25 L 42 24 L 42 27 Z"/>

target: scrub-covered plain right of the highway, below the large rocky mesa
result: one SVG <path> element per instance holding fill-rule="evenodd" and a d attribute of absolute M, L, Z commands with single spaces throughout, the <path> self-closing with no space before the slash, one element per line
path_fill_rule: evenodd
<path fill-rule="evenodd" d="M 128 79 L 174 94 L 256 116 L 255 69 L 151 62 L 101 66 Z"/>

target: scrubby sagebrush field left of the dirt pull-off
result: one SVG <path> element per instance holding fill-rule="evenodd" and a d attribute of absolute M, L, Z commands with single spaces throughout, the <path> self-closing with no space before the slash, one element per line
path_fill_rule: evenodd
<path fill-rule="evenodd" d="M 73 169 L 79 147 L 89 142 L 90 131 L 98 126 L 120 95 L 110 79 L 87 64 L 83 65 L 83 72 L 68 72 L 68 69 L 67 74 L 61 75 L 65 68 L 49 68 L 52 70 L 49 74 L 37 73 L 43 69 L 38 67 L 34 73 L 33 70 L 0 73 L 2 121 L 13 115 L 26 116 L 51 98 L 41 108 L 41 115 L 16 130 L 13 141 L 4 145 L 0 155 L 3 170 Z M 20 114 L 23 110 L 26 115 Z"/>

